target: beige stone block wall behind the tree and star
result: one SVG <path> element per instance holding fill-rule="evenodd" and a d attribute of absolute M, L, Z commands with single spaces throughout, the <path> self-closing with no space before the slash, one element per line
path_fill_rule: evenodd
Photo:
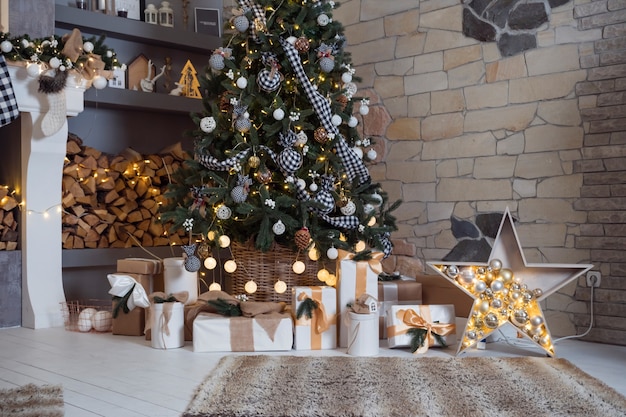
<path fill-rule="evenodd" d="M 544 3 L 535 44 L 513 53 L 499 29 L 466 36 L 458 0 L 350 0 L 334 17 L 370 98 L 372 175 L 404 201 L 395 253 L 443 259 L 452 218 L 508 206 L 528 262 L 602 272 L 586 339 L 626 344 L 626 3 Z M 586 330 L 589 296 L 581 277 L 546 300 L 554 336 Z"/>

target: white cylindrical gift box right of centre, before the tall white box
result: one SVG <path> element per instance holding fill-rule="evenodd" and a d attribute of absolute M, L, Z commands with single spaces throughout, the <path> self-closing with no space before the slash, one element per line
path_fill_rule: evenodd
<path fill-rule="evenodd" d="M 348 347 L 346 353 L 353 356 L 378 354 L 378 313 L 357 314 L 348 311 Z"/>

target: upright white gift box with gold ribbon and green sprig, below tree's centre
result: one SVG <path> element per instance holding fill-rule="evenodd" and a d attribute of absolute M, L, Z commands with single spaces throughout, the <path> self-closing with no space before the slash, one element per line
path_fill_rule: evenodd
<path fill-rule="evenodd" d="M 311 317 L 297 312 L 307 299 L 317 302 Z M 293 318 L 295 350 L 335 349 L 337 347 L 337 290 L 327 286 L 298 286 L 293 288 Z"/>

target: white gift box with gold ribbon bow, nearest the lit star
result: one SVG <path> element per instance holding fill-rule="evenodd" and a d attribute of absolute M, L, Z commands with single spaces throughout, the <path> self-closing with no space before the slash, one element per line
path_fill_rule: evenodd
<path fill-rule="evenodd" d="M 418 350 L 423 353 L 432 346 L 441 346 L 433 335 L 440 335 L 446 345 L 456 343 L 454 304 L 393 305 L 387 312 L 387 341 L 390 348 L 411 346 L 409 329 L 426 331 L 427 343 Z"/>

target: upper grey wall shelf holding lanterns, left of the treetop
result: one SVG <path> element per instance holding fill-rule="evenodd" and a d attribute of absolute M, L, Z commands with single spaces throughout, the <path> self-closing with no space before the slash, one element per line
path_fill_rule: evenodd
<path fill-rule="evenodd" d="M 190 52 L 207 53 L 222 46 L 222 39 L 195 32 L 151 25 L 140 20 L 109 16 L 75 7 L 55 5 L 56 26 L 61 29 L 80 29 L 93 35 L 149 45 L 176 48 Z"/>

